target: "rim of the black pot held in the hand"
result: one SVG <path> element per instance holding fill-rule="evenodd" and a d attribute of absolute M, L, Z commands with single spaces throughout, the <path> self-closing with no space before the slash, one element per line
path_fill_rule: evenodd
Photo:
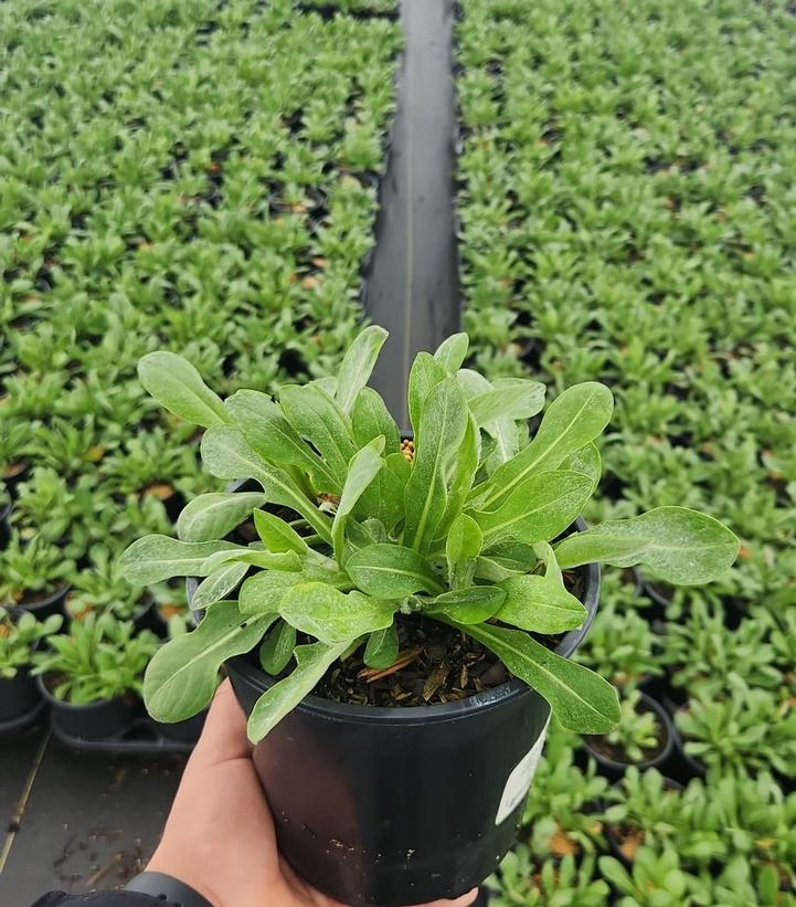
<path fill-rule="evenodd" d="M 227 487 L 227 491 L 242 491 L 248 482 L 253 482 L 253 479 L 238 479 L 237 482 L 233 482 Z M 583 517 L 577 517 L 572 525 L 579 531 L 583 531 L 587 528 L 586 520 Z M 577 650 L 577 646 L 583 642 L 592 626 L 599 602 L 599 565 L 596 562 L 587 563 L 581 569 L 585 574 L 583 604 L 587 613 L 583 624 L 575 630 L 570 630 L 553 650 L 556 655 L 561 655 L 564 658 L 572 656 Z M 185 592 L 189 607 L 198 586 L 199 580 L 195 577 L 187 578 Z M 269 689 L 274 685 L 274 678 L 251 664 L 245 656 L 236 655 L 229 658 L 226 665 L 262 693 L 265 693 L 266 689 Z M 461 718 L 470 713 L 495 708 L 506 702 L 517 699 L 520 696 L 530 696 L 531 694 L 540 695 L 532 687 L 528 686 L 528 684 L 514 678 L 491 689 L 476 693 L 474 696 L 468 696 L 453 703 L 435 703 L 426 706 L 405 707 L 355 706 L 349 703 L 336 703 L 310 693 L 301 699 L 300 707 L 340 721 L 369 720 L 408 726 Z"/>

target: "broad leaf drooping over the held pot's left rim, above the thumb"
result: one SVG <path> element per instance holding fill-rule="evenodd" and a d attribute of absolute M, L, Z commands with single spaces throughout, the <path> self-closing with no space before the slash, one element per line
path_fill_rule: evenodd
<path fill-rule="evenodd" d="M 245 616 L 234 601 L 211 605 L 199 626 L 160 648 L 144 678 L 144 699 L 157 721 L 183 721 L 213 698 L 221 665 L 253 648 L 276 614 Z"/>

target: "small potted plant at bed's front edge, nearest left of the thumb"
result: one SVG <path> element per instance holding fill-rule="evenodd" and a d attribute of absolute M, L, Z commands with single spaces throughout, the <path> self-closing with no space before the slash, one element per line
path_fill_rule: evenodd
<path fill-rule="evenodd" d="M 119 734 L 135 717 L 144 669 L 160 640 L 149 630 L 134 633 L 129 621 L 88 614 L 34 653 L 31 674 L 38 676 L 63 734 L 102 740 Z"/>

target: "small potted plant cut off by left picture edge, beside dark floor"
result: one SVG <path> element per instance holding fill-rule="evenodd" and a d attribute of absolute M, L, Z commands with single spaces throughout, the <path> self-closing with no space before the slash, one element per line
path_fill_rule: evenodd
<path fill-rule="evenodd" d="M 29 668 L 34 646 L 61 629 L 63 618 L 39 621 L 22 613 L 15 620 L 0 608 L 0 725 L 31 713 L 41 702 Z"/>

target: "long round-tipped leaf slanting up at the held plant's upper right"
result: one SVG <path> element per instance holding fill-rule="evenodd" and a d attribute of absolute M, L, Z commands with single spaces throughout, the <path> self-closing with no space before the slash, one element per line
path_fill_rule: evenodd
<path fill-rule="evenodd" d="M 614 398 L 604 384 L 586 381 L 569 388 L 550 404 L 533 441 L 498 466 L 486 488 L 475 488 L 473 497 L 481 507 L 499 504 L 532 474 L 555 470 L 604 431 L 613 408 Z"/>

